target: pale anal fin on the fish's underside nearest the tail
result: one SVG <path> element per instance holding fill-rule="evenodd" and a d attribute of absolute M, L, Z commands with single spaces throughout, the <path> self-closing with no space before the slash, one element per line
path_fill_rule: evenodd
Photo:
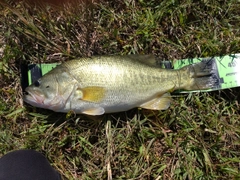
<path fill-rule="evenodd" d="M 166 110 L 169 108 L 171 101 L 171 95 L 169 93 L 165 93 L 143 103 L 140 107 L 151 110 Z"/>

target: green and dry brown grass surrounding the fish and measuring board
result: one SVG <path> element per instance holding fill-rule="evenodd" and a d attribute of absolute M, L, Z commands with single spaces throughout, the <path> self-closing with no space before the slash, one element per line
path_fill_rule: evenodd
<path fill-rule="evenodd" d="M 20 78 L 21 64 L 92 55 L 239 53 L 239 1 L 2 3 L 0 155 L 38 150 L 67 179 L 240 178 L 239 88 L 91 118 L 24 104 Z"/>

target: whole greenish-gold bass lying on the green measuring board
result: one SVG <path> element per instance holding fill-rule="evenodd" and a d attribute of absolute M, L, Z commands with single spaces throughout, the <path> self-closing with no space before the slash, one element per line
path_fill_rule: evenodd
<path fill-rule="evenodd" d="M 157 67 L 154 59 L 106 55 L 69 60 L 28 86 L 23 100 L 55 112 L 92 116 L 136 107 L 166 110 L 173 91 L 205 90 L 217 83 L 206 63 L 175 70 Z"/>

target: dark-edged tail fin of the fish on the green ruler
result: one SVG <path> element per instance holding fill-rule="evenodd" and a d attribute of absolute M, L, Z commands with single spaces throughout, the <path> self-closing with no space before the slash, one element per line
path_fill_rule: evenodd
<path fill-rule="evenodd" d="M 190 82 L 184 89 L 206 90 L 219 87 L 220 80 L 215 59 L 203 60 L 199 63 L 183 67 L 182 69 L 184 68 L 187 68 L 190 75 Z"/>

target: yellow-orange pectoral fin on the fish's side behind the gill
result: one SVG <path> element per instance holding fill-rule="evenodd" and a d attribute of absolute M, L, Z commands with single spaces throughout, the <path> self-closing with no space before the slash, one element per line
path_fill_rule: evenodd
<path fill-rule="evenodd" d="M 106 90 L 103 87 L 89 86 L 85 88 L 78 88 L 75 94 L 77 98 L 84 101 L 100 102 L 105 97 Z"/>

